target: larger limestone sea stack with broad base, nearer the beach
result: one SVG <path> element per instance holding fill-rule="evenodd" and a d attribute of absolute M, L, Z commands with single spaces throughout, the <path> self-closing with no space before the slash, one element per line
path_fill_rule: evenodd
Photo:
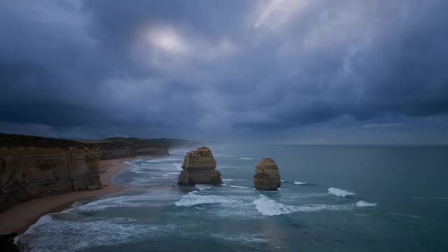
<path fill-rule="evenodd" d="M 207 147 L 197 148 L 185 156 L 179 185 L 196 184 L 221 185 L 221 173 L 216 171 L 216 160 Z"/>

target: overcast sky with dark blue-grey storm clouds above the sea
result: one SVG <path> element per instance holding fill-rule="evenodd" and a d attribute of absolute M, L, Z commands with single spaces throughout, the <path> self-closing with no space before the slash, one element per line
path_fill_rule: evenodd
<path fill-rule="evenodd" d="M 0 1 L 0 132 L 448 144 L 448 1 Z"/>

